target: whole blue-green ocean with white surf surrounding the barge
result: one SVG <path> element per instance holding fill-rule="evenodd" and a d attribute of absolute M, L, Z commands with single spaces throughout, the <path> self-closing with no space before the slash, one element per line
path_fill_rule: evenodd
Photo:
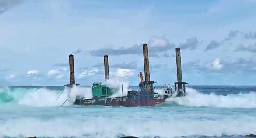
<path fill-rule="evenodd" d="M 156 107 L 74 106 L 63 86 L 0 87 L 0 138 L 238 138 L 256 134 L 255 86 L 189 86 Z M 162 86 L 158 86 L 161 89 Z M 128 89 L 137 90 L 137 86 Z M 123 92 L 125 94 L 125 91 Z M 69 98 L 62 107 L 64 101 Z"/>

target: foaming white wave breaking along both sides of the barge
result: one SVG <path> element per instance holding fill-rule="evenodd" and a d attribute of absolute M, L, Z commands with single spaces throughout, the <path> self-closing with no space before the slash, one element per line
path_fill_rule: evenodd
<path fill-rule="evenodd" d="M 127 94 L 127 87 L 124 87 L 123 96 Z M 186 88 L 185 97 L 172 97 L 167 99 L 163 105 L 173 106 L 174 104 L 186 107 L 215 107 L 215 108 L 256 108 L 256 93 L 240 93 L 217 95 L 202 94 L 195 89 Z M 46 88 L 15 88 L 10 90 L 8 87 L 0 88 L 0 104 L 1 105 L 26 105 L 35 107 L 54 107 L 60 106 L 66 99 L 67 102 L 63 106 L 70 106 L 75 101 L 77 95 L 85 98 L 92 97 L 91 88 L 73 87 L 69 92 L 69 88 L 65 88 L 60 97 L 56 101 L 56 94 L 59 90 L 49 90 Z M 158 90 L 161 94 L 161 91 Z M 115 96 L 121 96 L 119 91 Z"/>

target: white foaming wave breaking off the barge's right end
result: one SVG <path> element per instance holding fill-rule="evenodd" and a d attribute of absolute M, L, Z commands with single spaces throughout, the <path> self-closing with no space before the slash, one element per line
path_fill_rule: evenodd
<path fill-rule="evenodd" d="M 185 97 L 167 99 L 167 103 L 175 103 L 188 107 L 215 107 L 215 108 L 256 108 L 256 92 L 217 95 L 202 94 L 195 89 L 186 88 Z"/>

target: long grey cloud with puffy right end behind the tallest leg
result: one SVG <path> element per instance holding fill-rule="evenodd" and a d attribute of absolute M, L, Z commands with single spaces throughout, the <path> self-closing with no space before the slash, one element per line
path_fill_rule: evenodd
<path fill-rule="evenodd" d="M 157 53 L 165 52 L 175 47 L 175 44 L 171 44 L 165 36 L 157 37 L 152 36 L 148 41 L 148 53 L 149 57 L 158 57 Z M 104 47 L 98 50 L 92 50 L 90 53 L 92 56 L 101 57 L 107 55 L 126 55 L 126 54 L 143 54 L 142 44 L 135 44 L 132 47 L 120 47 L 115 49 L 113 47 Z"/>

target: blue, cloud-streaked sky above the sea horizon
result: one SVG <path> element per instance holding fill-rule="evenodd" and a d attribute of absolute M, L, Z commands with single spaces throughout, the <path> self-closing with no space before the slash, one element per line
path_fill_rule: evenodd
<path fill-rule="evenodd" d="M 0 85 L 256 85 L 256 0 L 0 0 Z"/>

